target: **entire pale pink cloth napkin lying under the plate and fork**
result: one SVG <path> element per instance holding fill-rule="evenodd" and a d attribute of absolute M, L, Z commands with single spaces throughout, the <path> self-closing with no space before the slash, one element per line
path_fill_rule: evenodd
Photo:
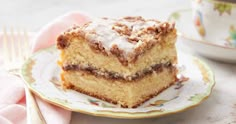
<path fill-rule="evenodd" d="M 32 51 L 55 44 L 60 33 L 73 25 L 82 25 L 90 18 L 71 12 L 57 18 L 42 28 L 32 40 Z M 0 62 L 1 64 L 1 62 Z M 24 85 L 20 78 L 6 73 L 0 74 L 0 124 L 25 124 L 26 107 Z M 71 112 L 46 103 L 36 97 L 39 108 L 48 124 L 69 124 Z"/>

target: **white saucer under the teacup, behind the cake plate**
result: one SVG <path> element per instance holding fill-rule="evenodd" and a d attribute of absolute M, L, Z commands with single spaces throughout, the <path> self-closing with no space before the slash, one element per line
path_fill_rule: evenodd
<path fill-rule="evenodd" d="M 202 40 L 192 23 L 192 10 L 178 10 L 169 16 L 176 23 L 180 41 L 198 54 L 227 63 L 236 63 L 236 48 L 221 41 L 212 43 Z"/>

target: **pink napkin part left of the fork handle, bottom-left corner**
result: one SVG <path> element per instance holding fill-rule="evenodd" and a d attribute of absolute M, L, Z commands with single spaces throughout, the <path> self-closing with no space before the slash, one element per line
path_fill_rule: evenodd
<path fill-rule="evenodd" d="M 20 78 L 0 75 L 0 124 L 25 124 L 25 91 Z"/>

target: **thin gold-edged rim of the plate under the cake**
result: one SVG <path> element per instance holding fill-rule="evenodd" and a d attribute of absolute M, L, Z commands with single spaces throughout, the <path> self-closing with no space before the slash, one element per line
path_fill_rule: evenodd
<path fill-rule="evenodd" d="M 44 51 L 48 51 L 50 49 L 53 49 L 55 48 L 55 46 L 52 46 L 52 47 L 48 47 L 48 48 L 45 48 L 45 49 L 42 49 L 42 50 L 39 50 L 38 52 L 36 52 L 32 57 L 34 56 L 37 56 L 38 54 L 40 54 L 41 52 L 44 52 Z M 30 57 L 30 58 L 32 58 Z M 215 76 L 214 76 L 214 73 L 212 72 L 212 70 L 210 69 L 210 67 L 204 63 L 203 61 L 201 61 L 200 59 L 198 59 L 197 57 L 192 57 L 193 59 L 197 59 L 201 62 L 201 64 L 204 65 L 204 67 L 210 72 L 210 79 L 211 81 L 209 82 L 210 85 L 208 86 L 207 90 L 206 90 L 206 93 L 204 93 L 204 97 L 202 97 L 199 101 L 197 102 L 193 102 L 192 104 L 188 105 L 188 106 L 185 106 L 183 108 L 180 108 L 180 109 L 176 109 L 176 110 L 173 110 L 173 111 L 165 111 L 165 112 L 160 112 L 160 111 L 150 111 L 150 112 L 142 112 L 142 113 L 139 113 L 139 112 L 134 112 L 134 113 L 124 113 L 124 112 L 112 112 L 112 111 L 85 111 L 85 110 L 82 110 L 82 109 L 79 109 L 79 108 L 72 108 L 72 107 L 69 107 L 68 105 L 66 104 L 62 104 L 62 103 L 57 103 L 56 101 L 52 101 L 50 99 L 48 99 L 46 96 L 42 95 L 40 92 L 38 92 L 37 90 L 35 90 L 30 83 L 28 83 L 27 81 L 27 75 L 25 75 L 24 71 L 25 71 L 25 68 L 27 67 L 27 62 L 30 60 L 28 59 L 22 69 L 21 69 L 21 76 L 22 76 L 22 79 L 24 80 L 24 82 L 26 83 L 26 86 L 30 89 L 31 92 L 33 92 L 35 95 L 39 96 L 41 99 L 43 99 L 44 101 L 48 102 L 48 103 L 51 103 L 53 105 L 56 105 L 56 106 L 59 106 L 63 109 L 66 109 L 66 110 L 69 110 L 69 111 L 73 111 L 73 112 L 80 112 L 80 113 L 83 113 L 83 114 L 88 114 L 88 115 L 93 115 L 93 116 L 99 116 L 99 117 L 109 117 L 109 118 L 120 118 L 120 119 L 141 119 L 141 118 L 153 118 L 153 117 L 162 117 L 162 116 L 166 116 L 166 115 L 171 115 L 171 114 L 175 114 L 175 113 L 179 113 L 179 112 L 183 112 L 183 111 L 186 111 L 188 109 L 191 109 L 191 108 L 194 108 L 196 106 L 198 106 L 199 104 L 201 104 L 203 101 L 205 101 L 209 96 L 210 94 L 212 93 L 212 90 L 213 90 L 213 87 L 215 86 Z M 210 88 L 210 89 L 209 89 Z"/>

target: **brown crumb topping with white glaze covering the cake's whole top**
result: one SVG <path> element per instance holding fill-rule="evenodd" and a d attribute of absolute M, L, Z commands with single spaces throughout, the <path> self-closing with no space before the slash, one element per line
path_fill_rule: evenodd
<path fill-rule="evenodd" d="M 173 31 L 174 27 L 174 23 L 144 19 L 141 16 L 120 19 L 99 18 L 81 27 L 71 28 L 64 33 L 64 36 L 77 33 L 76 35 L 90 42 L 93 48 L 106 55 L 113 54 L 122 63 L 127 64 L 153 44 L 161 42 L 160 36 Z"/>

